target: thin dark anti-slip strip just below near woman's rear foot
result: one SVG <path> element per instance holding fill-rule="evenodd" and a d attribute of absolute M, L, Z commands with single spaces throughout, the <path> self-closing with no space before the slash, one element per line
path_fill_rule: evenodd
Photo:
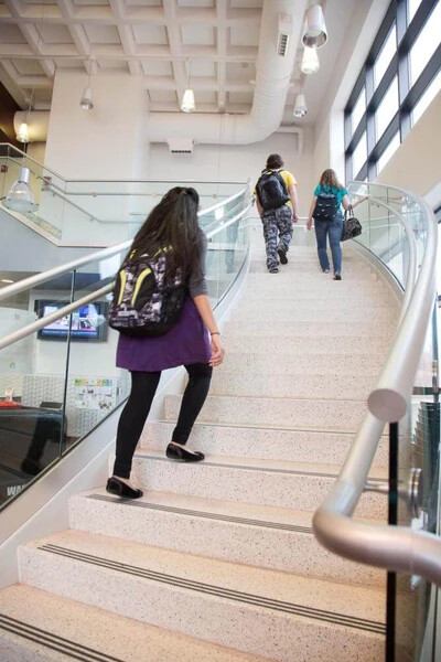
<path fill-rule="evenodd" d="M 277 528 L 280 531 L 292 531 L 295 533 L 312 534 L 312 528 L 309 526 L 298 526 L 295 524 L 283 524 L 281 522 L 267 522 L 266 520 L 250 520 L 248 517 L 237 517 L 234 515 L 224 515 L 219 513 L 211 513 L 205 511 L 193 511 L 184 508 L 175 508 L 172 505 L 162 505 L 159 503 L 147 503 L 146 501 L 135 501 L 133 499 L 120 499 L 119 496 L 107 496 L 106 494 L 88 494 L 87 499 L 95 501 L 106 501 L 118 505 L 129 505 L 132 508 L 143 508 L 148 510 L 162 511 L 176 515 L 187 515 L 191 517 L 201 517 L 202 520 L 217 520 L 220 522 L 234 522 L 235 524 L 247 524 L 249 526 L 261 526 L 263 528 Z"/>

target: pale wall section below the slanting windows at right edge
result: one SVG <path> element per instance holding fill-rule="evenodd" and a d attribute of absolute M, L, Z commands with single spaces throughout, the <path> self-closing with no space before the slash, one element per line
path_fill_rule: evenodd
<path fill-rule="evenodd" d="M 408 189 L 421 196 L 435 189 L 441 182 L 440 126 L 441 92 L 386 163 L 376 182 Z"/>

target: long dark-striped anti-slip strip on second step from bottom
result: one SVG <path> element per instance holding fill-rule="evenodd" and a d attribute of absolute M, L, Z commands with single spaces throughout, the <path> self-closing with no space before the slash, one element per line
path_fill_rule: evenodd
<path fill-rule="evenodd" d="M 166 575 L 164 573 L 148 570 L 147 568 L 131 566 L 125 563 L 114 562 L 101 556 L 85 554 L 83 552 L 69 549 L 68 547 L 61 547 L 58 545 L 45 544 L 41 545 L 39 549 L 43 552 L 49 552 L 51 554 L 57 554 L 58 556 L 72 558 L 74 560 L 87 563 L 89 565 L 108 568 L 118 573 L 125 573 L 126 575 L 140 577 L 142 579 L 158 581 L 160 584 L 166 584 L 169 586 L 176 586 L 196 592 L 212 595 L 218 598 L 226 598 L 236 602 L 251 605 L 254 607 L 262 607 L 263 609 L 281 611 L 284 613 L 290 613 L 292 616 L 302 616 L 304 618 L 321 620 L 333 624 L 354 628 L 357 630 L 366 630 L 375 634 L 386 633 L 386 626 L 378 621 L 346 616 L 344 613 L 336 613 L 334 611 L 325 611 L 322 609 L 315 609 L 313 607 L 304 607 L 303 605 L 294 605 L 291 602 L 275 600 L 272 598 L 265 598 L 262 596 L 246 594 L 229 588 L 222 588 L 220 586 L 214 586 L 211 584 L 203 584 L 201 581 L 194 581 L 192 579 L 185 579 L 183 577 L 176 577 L 174 575 Z"/>

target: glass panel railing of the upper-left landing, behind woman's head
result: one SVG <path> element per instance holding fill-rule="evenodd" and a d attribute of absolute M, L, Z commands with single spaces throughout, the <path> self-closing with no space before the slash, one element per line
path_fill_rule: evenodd
<path fill-rule="evenodd" d="M 149 212 L 171 188 L 197 189 L 201 210 L 211 209 L 244 191 L 238 182 L 182 181 L 66 181 L 55 172 L 8 145 L 0 145 L 0 197 L 3 200 L 29 169 L 29 185 L 36 209 L 20 212 L 64 245 L 109 246 L 135 236 Z M 4 201 L 3 201 L 4 202 Z M 230 205 L 237 207 L 238 199 Z M 216 222 L 225 212 L 208 212 L 202 226 Z"/>

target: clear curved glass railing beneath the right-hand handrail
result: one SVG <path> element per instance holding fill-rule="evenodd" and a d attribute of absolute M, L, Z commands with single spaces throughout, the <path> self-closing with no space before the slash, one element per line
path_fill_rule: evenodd
<path fill-rule="evenodd" d="M 428 245 L 430 218 L 418 199 L 394 188 L 349 186 L 370 196 L 357 217 L 363 234 L 356 241 L 390 270 L 408 298 Z M 437 310 L 427 330 L 407 415 L 390 424 L 389 524 L 439 535 L 440 405 Z M 419 576 L 388 574 L 387 662 L 432 662 L 437 589 Z"/>

